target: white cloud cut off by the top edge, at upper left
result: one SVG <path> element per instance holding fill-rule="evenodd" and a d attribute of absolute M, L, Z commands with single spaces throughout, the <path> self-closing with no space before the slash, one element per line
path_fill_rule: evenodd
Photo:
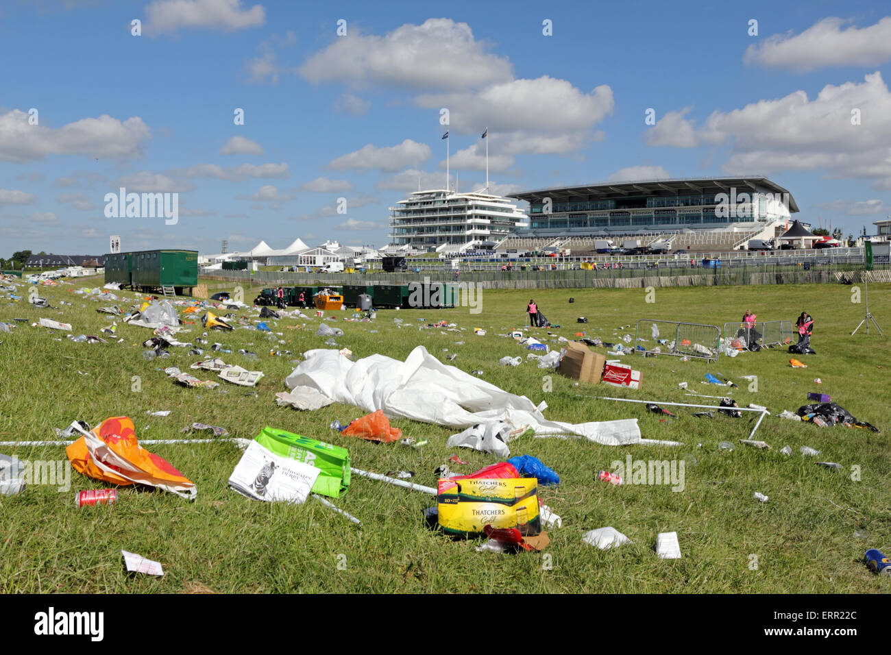
<path fill-rule="evenodd" d="M 153 0 L 145 7 L 146 34 L 176 32 L 180 28 L 231 31 L 266 23 L 262 4 L 248 8 L 241 0 Z"/>

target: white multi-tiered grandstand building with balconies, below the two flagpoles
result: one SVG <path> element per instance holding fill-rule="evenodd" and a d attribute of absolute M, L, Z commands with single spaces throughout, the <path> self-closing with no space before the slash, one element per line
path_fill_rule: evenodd
<path fill-rule="evenodd" d="M 390 242 L 425 250 L 500 241 L 528 226 L 515 204 L 484 192 L 416 191 L 389 211 Z"/>

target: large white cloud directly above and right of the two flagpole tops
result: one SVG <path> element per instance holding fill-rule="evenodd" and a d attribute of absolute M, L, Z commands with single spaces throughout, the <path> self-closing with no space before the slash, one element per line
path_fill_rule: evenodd
<path fill-rule="evenodd" d="M 447 107 L 457 134 L 482 134 L 488 127 L 490 149 L 500 154 L 566 154 L 578 151 L 601 133 L 593 127 L 612 113 L 612 89 L 597 86 L 584 93 L 567 80 L 543 76 L 514 79 L 471 92 L 424 94 L 415 103 L 426 109 Z"/>

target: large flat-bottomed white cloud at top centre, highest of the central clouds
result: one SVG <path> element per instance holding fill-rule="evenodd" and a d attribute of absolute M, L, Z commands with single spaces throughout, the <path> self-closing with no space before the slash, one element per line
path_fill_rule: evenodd
<path fill-rule="evenodd" d="M 350 26 L 315 53 L 298 72 L 312 82 L 337 80 L 354 86 L 462 89 L 511 78 L 511 63 L 489 53 L 467 23 L 431 18 L 405 24 L 384 37 Z"/>

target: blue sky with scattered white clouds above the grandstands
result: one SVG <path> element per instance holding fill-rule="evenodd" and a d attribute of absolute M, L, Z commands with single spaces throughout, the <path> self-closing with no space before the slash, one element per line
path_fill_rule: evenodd
<path fill-rule="evenodd" d="M 0 256 L 101 254 L 111 234 L 125 250 L 380 247 L 388 206 L 419 176 L 445 184 L 446 129 L 452 184 L 484 183 L 486 127 L 495 192 L 764 173 L 803 220 L 872 233 L 891 214 L 889 16 L 879 2 L 5 0 Z M 105 217 L 122 185 L 178 192 L 178 223 Z"/>

